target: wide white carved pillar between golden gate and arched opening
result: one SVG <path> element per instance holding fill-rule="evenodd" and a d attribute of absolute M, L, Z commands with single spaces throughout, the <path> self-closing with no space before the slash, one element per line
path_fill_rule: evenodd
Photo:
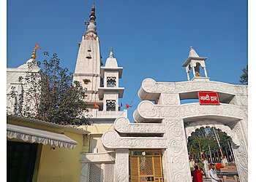
<path fill-rule="evenodd" d="M 187 142 L 182 119 L 164 119 L 167 135 L 169 181 L 190 181 Z"/>

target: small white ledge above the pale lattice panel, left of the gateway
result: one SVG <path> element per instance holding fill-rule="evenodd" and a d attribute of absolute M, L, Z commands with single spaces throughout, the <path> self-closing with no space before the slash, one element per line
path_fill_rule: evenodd
<path fill-rule="evenodd" d="M 86 153 L 80 154 L 80 162 L 114 162 L 115 152 L 110 153 Z"/>

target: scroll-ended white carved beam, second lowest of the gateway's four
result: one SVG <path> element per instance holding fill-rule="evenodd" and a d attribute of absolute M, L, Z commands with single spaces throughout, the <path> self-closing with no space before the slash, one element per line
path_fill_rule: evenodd
<path fill-rule="evenodd" d="M 165 124 L 154 124 L 154 123 L 130 123 L 129 119 L 120 117 L 116 119 L 114 127 L 118 132 L 154 132 L 164 133 Z"/>

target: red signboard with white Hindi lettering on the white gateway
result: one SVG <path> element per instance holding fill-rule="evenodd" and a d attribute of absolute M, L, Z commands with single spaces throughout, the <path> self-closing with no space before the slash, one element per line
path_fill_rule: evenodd
<path fill-rule="evenodd" d="M 198 92 L 200 105 L 219 105 L 217 92 Z"/>

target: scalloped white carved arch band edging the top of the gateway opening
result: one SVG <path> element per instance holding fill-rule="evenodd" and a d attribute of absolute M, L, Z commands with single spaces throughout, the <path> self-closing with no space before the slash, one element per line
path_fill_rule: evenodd
<path fill-rule="evenodd" d="M 197 122 L 191 122 L 189 125 L 187 125 L 185 127 L 187 138 L 191 136 L 192 132 L 195 132 L 195 130 L 200 129 L 200 127 L 215 127 L 219 130 L 222 130 L 222 132 L 227 133 L 227 136 L 230 136 L 230 138 L 232 139 L 232 143 L 235 146 L 240 146 L 239 138 L 237 138 L 237 135 L 235 135 L 235 133 L 229 126 L 210 119 L 198 120 Z"/>

